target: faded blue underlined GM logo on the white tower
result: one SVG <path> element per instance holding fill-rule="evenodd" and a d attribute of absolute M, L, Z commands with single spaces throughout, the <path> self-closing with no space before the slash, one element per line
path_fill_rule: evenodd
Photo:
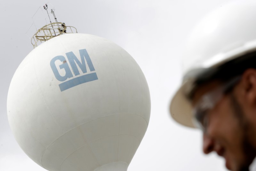
<path fill-rule="evenodd" d="M 76 78 L 73 78 L 73 74 L 72 74 L 72 72 L 68 66 L 67 60 L 64 56 L 55 56 L 54 58 L 52 58 L 50 65 L 51 65 L 51 68 L 52 68 L 55 78 L 61 82 L 65 81 L 65 82 L 59 84 L 60 91 L 64 91 L 64 90 L 67 90 L 76 85 L 83 84 L 83 83 L 98 79 L 96 72 L 89 73 L 89 74 L 87 73 L 86 63 L 91 72 L 95 71 L 95 69 L 92 65 L 91 58 L 88 55 L 86 49 L 79 50 L 79 53 L 80 53 L 81 62 L 77 59 L 77 57 L 75 56 L 75 54 L 73 52 L 66 53 L 68 62 L 70 63 L 70 66 L 71 66 L 75 76 L 80 75 L 77 66 L 83 72 L 83 73 L 81 73 L 81 76 L 76 77 Z M 55 61 L 58 61 L 58 60 L 60 62 L 62 62 L 62 64 L 60 64 L 59 67 L 60 67 L 60 69 L 65 70 L 64 76 L 60 75 L 60 73 L 57 69 L 57 66 L 55 65 Z M 86 63 L 85 63 L 85 61 L 86 61 Z M 68 78 L 72 78 L 72 79 L 68 79 Z"/>

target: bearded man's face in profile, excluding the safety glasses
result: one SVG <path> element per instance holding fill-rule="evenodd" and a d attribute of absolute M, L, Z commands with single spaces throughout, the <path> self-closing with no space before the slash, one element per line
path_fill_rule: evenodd
<path fill-rule="evenodd" d="M 213 81 L 199 87 L 193 98 L 196 105 L 200 98 L 221 83 Z M 203 151 L 208 154 L 215 151 L 226 160 L 226 167 L 233 171 L 248 170 L 255 157 L 255 148 L 247 134 L 250 122 L 243 113 L 236 94 L 231 92 L 220 98 L 216 105 L 204 116 L 207 128 L 203 136 Z"/>

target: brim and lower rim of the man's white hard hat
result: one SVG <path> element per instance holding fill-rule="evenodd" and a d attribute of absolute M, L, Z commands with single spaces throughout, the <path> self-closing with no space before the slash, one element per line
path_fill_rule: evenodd
<path fill-rule="evenodd" d="M 190 78 L 196 79 L 197 76 L 200 73 L 204 72 L 205 70 L 216 68 L 228 61 L 231 61 L 233 59 L 236 59 L 238 57 L 241 57 L 245 54 L 255 52 L 256 51 L 256 40 L 244 43 L 243 46 L 240 46 L 238 48 L 232 49 L 225 53 L 220 53 L 209 60 L 202 63 L 201 71 L 197 72 Z M 191 71 L 188 71 L 187 73 L 192 73 Z M 185 95 L 185 90 L 187 87 L 189 87 L 193 83 L 192 80 L 183 82 L 183 84 L 180 86 L 180 88 L 177 90 L 175 95 L 172 98 L 171 104 L 170 104 L 170 112 L 172 118 L 177 121 L 178 123 L 188 126 L 191 128 L 196 128 L 194 124 L 193 119 L 193 113 L 192 113 L 192 106 L 189 100 L 187 99 Z"/>

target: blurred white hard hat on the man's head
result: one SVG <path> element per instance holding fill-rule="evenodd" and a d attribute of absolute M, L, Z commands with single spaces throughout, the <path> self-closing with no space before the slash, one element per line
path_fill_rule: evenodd
<path fill-rule="evenodd" d="M 207 15 L 193 30 L 183 59 L 183 81 L 170 112 L 178 123 L 195 127 L 186 97 L 199 75 L 256 51 L 256 1 L 233 1 Z"/>

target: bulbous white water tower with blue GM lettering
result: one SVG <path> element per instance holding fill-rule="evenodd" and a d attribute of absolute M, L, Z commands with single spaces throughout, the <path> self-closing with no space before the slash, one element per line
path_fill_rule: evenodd
<path fill-rule="evenodd" d="M 126 171 L 150 117 L 143 72 L 115 43 L 55 21 L 32 37 L 12 78 L 14 137 L 49 171 Z"/>

